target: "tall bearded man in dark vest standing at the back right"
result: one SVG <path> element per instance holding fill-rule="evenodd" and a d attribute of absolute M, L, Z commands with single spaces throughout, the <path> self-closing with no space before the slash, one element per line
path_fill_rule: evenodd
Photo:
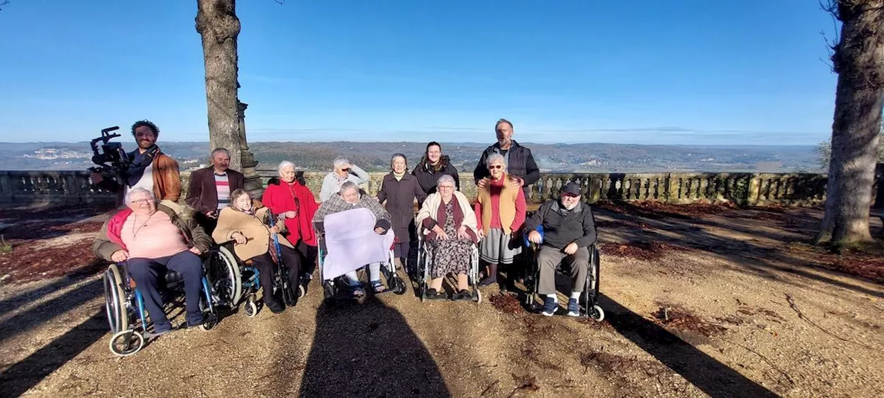
<path fill-rule="evenodd" d="M 488 181 L 488 166 L 485 165 L 485 159 L 492 153 L 499 153 L 507 159 L 507 174 L 516 178 L 514 184 L 522 187 L 525 193 L 525 199 L 529 198 L 528 186 L 540 180 L 540 169 L 531 155 L 531 149 L 519 145 L 513 141 L 513 124 L 507 119 L 499 119 L 494 125 L 494 131 L 497 133 L 498 142 L 486 148 L 479 158 L 479 164 L 473 171 L 473 178 L 476 179 L 476 185 L 483 188 Z"/>

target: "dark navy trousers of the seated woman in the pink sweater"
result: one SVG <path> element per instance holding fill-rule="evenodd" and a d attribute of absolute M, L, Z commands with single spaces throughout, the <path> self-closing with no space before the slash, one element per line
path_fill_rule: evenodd
<path fill-rule="evenodd" d="M 130 258 L 126 261 L 129 276 L 135 279 L 135 285 L 144 297 L 144 307 L 150 319 L 154 321 L 154 331 L 171 328 L 169 319 L 163 310 L 163 297 L 160 296 L 159 283 L 165 280 L 168 271 L 181 274 L 184 278 L 184 299 L 187 302 L 187 324 L 202 323 L 200 311 L 200 295 L 202 294 L 202 260 L 190 250 L 182 251 L 174 256 L 160 258 Z"/>

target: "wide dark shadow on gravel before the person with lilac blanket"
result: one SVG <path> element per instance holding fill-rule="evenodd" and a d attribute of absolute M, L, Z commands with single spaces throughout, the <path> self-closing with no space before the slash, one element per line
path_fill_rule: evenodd
<path fill-rule="evenodd" d="M 300 396 L 450 395 L 430 352 L 399 310 L 370 296 L 362 304 L 323 303 L 316 311 Z"/>

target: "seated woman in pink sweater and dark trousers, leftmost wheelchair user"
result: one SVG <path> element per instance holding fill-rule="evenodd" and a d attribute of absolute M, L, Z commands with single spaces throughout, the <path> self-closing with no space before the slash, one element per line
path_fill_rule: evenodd
<path fill-rule="evenodd" d="M 117 211 L 104 222 L 95 236 L 95 256 L 114 263 L 126 263 L 126 271 L 138 284 L 144 306 L 154 323 L 156 335 L 171 332 L 158 287 L 167 271 L 184 279 L 187 327 L 208 322 L 200 310 L 202 260 L 212 240 L 194 218 L 156 204 L 149 190 L 135 187 L 126 195 L 128 208 Z"/>

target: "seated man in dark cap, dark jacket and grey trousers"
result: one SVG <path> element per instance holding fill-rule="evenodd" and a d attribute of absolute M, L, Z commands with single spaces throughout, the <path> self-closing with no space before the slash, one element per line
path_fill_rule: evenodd
<path fill-rule="evenodd" d="M 581 202 L 580 186 L 569 182 L 561 189 L 558 201 L 546 201 L 525 221 L 528 240 L 539 244 L 537 266 L 540 280 L 537 293 L 545 295 L 543 314 L 552 317 L 559 309 L 556 298 L 555 269 L 568 264 L 571 274 L 571 295 L 568 298 L 568 316 L 580 316 L 578 299 L 586 283 L 590 266 L 589 247 L 596 242 L 596 223 L 590 205 Z M 544 235 L 537 233 L 543 226 Z"/>

